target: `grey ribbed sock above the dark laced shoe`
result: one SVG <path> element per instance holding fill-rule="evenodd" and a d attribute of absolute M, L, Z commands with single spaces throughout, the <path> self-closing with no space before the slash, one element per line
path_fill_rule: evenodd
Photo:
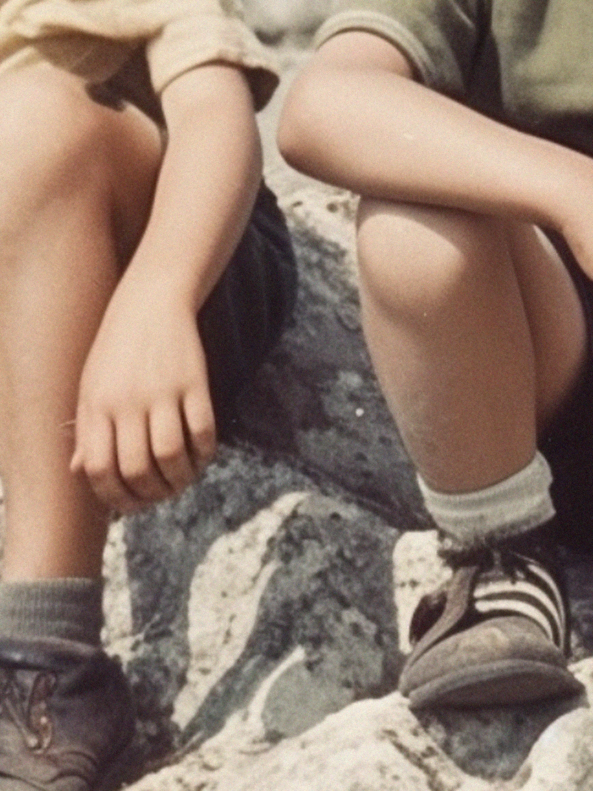
<path fill-rule="evenodd" d="M 100 580 L 0 582 L 0 635 L 99 645 L 102 596 Z"/>

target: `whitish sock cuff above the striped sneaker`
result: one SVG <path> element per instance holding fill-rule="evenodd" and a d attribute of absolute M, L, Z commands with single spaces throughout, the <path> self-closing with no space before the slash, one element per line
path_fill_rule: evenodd
<path fill-rule="evenodd" d="M 550 497 L 552 472 L 539 451 L 523 470 L 474 492 L 444 494 L 432 490 L 420 475 L 417 481 L 437 527 L 463 549 L 518 536 L 556 513 Z"/>

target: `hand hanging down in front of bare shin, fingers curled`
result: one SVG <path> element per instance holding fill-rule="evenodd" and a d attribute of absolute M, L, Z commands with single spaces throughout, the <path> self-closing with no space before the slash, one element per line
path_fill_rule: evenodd
<path fill-rule="evenodd" d="M 84 471 L 102 501 L 131 513 L 181 492 L 215 451 L 193 308 L 124 275 L 81 376 L 71 471 Z"/>

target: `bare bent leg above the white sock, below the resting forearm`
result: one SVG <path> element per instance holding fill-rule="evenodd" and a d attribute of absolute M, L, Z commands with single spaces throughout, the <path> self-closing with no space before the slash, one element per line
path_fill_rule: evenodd
<path fill-rule="evenodd" d="M 368 346 L 423 479 L 466 492 L 525 467 L 584 361 L 557 255 L 526 226 L 369 200 L 358 244 Z"/>

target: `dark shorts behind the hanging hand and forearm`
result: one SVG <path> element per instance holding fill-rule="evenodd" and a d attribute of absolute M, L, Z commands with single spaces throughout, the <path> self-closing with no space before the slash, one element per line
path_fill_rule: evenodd
<path fill-rule="evenodd" d="M 237 395 L 278 341 L 295 300 L 289 231 L 263 184 L 244 237 L 198 315 L 219 438 L 229 438 Z"/>

